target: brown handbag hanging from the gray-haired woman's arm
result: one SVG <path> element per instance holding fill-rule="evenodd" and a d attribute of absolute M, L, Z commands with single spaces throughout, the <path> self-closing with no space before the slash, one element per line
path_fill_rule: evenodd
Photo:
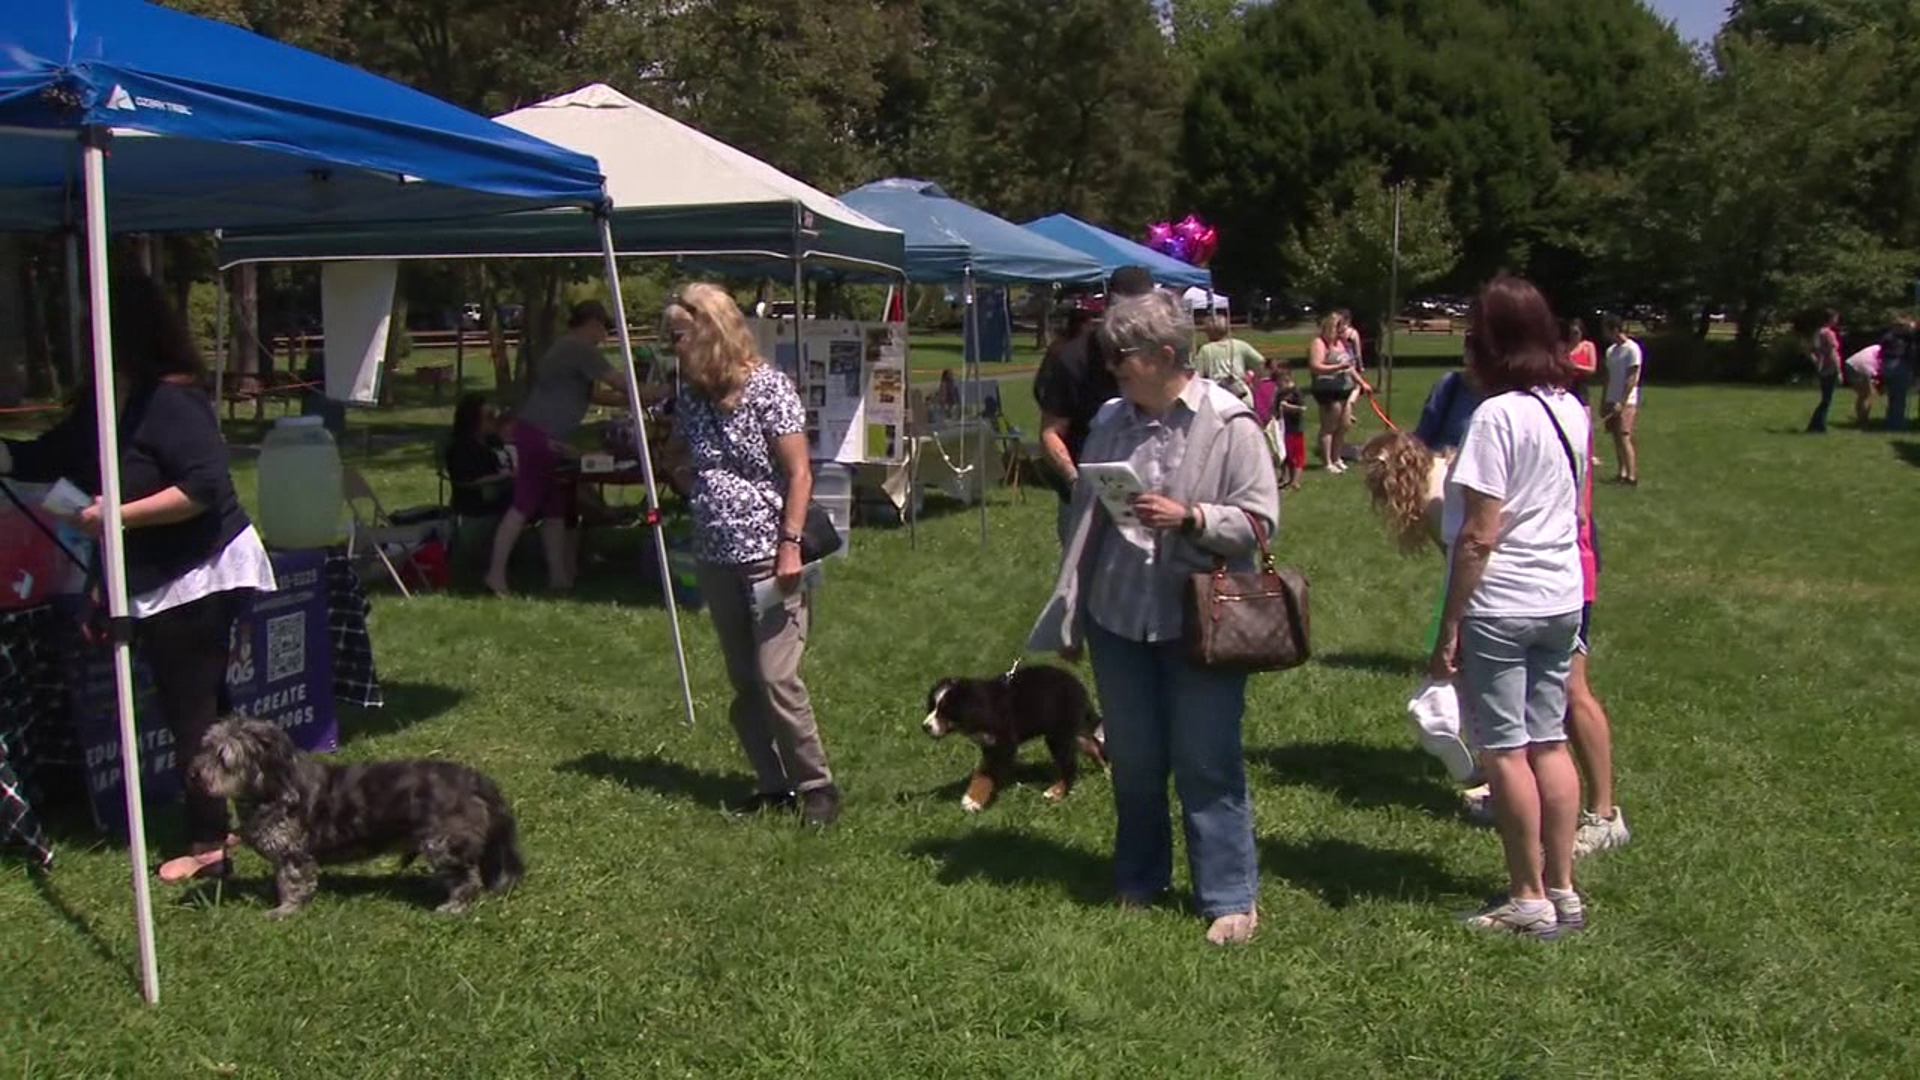
<path fill-rule="evenodd" d="M 1311 655 L 1308 638 L 1308 578 L 1273 565 L 1267 530 L 1246 515 L 1260 544 L 1260 567 L 1229 573 L 1213 557 L 1213 571 L 1187 578 L 1187 659 L 1208 671 L 1286 671 Z"/>

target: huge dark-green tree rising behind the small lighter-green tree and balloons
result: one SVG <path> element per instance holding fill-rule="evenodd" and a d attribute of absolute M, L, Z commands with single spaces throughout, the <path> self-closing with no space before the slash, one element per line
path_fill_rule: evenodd
<path fill-rule="evenodd" d="M 1296 0 L 1244 35 L 1187 100 L 1183 190 L 1240 286 L 1294 281 L 1286 240 L 1350 161 L 1446 179 L 1453 284 L 1500 269 L 1588 288 L 1609 177 L 1667 125 L 1655 94 L 1688 50 L 1636 0 Z"/>

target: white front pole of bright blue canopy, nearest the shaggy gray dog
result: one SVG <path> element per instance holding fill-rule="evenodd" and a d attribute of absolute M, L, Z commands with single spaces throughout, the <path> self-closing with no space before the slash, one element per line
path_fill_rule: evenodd
<path fill-rule="evenodd" d="M 100 548 L 113 628 L 113 696 L 121 736 L 121 786 L 127 794 L 127 857 L 132 863 L 134 928 L 140 942 L 140 995 L 159 1003 L 159 961 L 154 955 L 154 897 L 146 871 L 146 807 L 140 803 L 140 734 L 132 713 L 132 619 L 127 617 L 127 540 L 121 532 L 119 405 L 113 396 L 113 319 L 108 307 L 108 192 L 106 129 L 83 135 L 81 171 L 86 186 L 86 288 L 94 334 L 94 417 L 100 421 Z M 194 748 L 175 748 L 194 753 Z"/>

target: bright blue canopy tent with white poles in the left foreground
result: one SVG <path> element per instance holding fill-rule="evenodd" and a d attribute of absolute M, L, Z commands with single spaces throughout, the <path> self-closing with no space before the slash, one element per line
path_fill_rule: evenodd
<path fill-rule="evenodd" d="M 159 972 L 111 423 L 109 231 L 417 221 L 601 202 L 591 158 L 238 27 L 136 0 L 8 6 L 0 21 L 0 229 L 84 229 L 86 242 L 104 584 L 148 1001 L 159 997 Z M 605 240 L 605 225 L 601 234 Z M 605 250 L 611 271 L 611 246 Z M 609 286 L 618 306 L 618 275 L 609 273 Z M 626 319 L 618 321 L 632 373 Z M 643 417 L 634 398 L 636 417 Z M 649 498 L 651 473 L 647 461 Z M 678 623 L 674 638 L 678 644 Z"/>

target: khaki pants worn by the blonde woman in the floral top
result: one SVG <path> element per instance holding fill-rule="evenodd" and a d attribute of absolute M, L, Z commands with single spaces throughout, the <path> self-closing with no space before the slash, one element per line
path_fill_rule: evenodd
<path fill-rule="evenodd" d="M 833 782 L 814 707 L 801 682 L 812 613 L 808 598 L 801 594 L 789 596 L 766 615 L 755 615 L 751 584 L 772 573 L 772 561 L 745 567 L 701 563 L 701 594 L 733 682 L 728 719 L 733 721 L 739 748 L 747 751 L 758 790 L 812 792 Z"/>

